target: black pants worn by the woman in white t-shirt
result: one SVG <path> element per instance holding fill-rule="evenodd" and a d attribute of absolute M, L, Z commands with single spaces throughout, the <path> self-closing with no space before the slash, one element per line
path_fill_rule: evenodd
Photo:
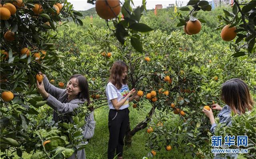
<path fill-rule="evenodd" d="M 123 110 L 110 109 L 108 113 L 108 159 L 113 159 L 116 154 L 123 155 L 124 135 L 129 122 L 128 108 Z"/>

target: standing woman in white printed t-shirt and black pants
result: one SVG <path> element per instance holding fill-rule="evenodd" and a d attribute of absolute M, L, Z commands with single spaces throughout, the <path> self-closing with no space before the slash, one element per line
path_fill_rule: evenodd
<path fill-rule="evenodd" d="M 129 102 L 134 98 L 139 98 L 134 88 L 131 91 L 128 88 L 127 72 L 128 66 L 122 61 L 116 61 L 111 68 L 111 75 L 106 86 L 110 108 L 108 114 L 108 159 L 114 158 L 115 151 L 118 159 L 122 159 L 124 135 L 129 122 Z"/>

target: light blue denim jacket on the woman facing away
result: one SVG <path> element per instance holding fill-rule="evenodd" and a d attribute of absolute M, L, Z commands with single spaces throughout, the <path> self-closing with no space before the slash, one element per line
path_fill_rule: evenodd
<path fill-rule="evenodd" d="M 226 105 L 220 110 L 219 114 L 217 115 L 218 118 L 220 118 L 220 123 L 226 123 L 226 126 L 231 126 L 231 108 L 230 106 Z M 210 129 L 210 132 L 214 134 L 214 130 L 216 128 L 217 124 L 212 124 L 212 127 Z"/>

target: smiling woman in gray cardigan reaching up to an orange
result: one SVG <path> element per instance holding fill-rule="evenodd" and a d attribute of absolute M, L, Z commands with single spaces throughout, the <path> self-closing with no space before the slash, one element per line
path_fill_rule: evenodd
<path fill-rule="evenodd" d="M 38 92 L 47 101 L 50 107 L 53 108 L 53 120 L 57 122 L 73 122 L 73 111 L 80 104 L 90 104 L 90 95 L 88 82 L 83 75 L 73 75 L 70 77 L 66 89 L 60 89 L 50 84 L 46 75 L 43 75 L 43 80 L 39 84 L 37 81 Z M 69 159 L 85 159 L 84 149 L 77 151 L 76 157 L 73 154 Z"/>

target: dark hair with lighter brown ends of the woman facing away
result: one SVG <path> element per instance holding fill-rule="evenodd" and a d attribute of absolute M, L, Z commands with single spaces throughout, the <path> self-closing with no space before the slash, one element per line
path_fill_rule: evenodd
<path fill-rule="evenodd" d="M 254 101 L 249 88 L 241 79 L 230 79 L 222 84 L 222 100 L 237 114 L 244 114 L 246 109 L 252 110 Z"/>

